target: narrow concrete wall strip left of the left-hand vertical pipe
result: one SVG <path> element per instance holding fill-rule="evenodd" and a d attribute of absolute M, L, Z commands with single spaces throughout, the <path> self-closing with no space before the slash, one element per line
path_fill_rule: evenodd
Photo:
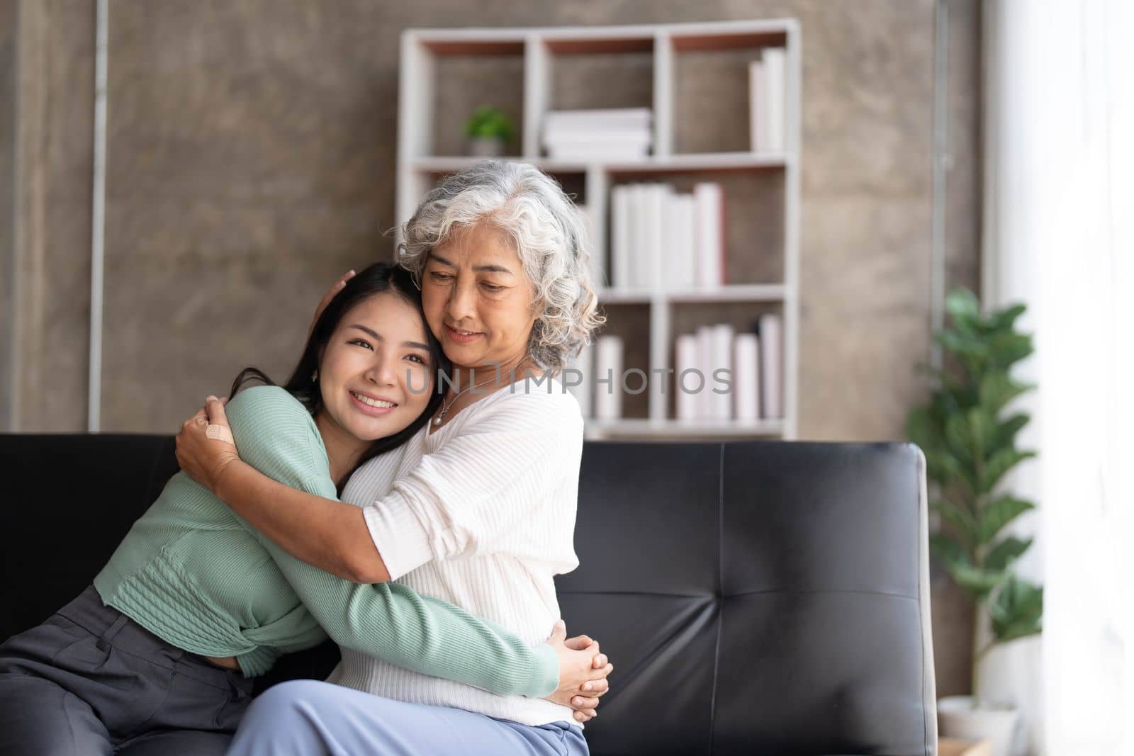
<path fill-rule="evenodd" d="M 12 345 L 3 383 L 9 426 L 86 427 L 93 171 L 94 3 L 20 0 L 15 99 L 3 150 L 11 193 L 5 304 Z M 113 295 L 111 295 L 113 296 Z M 3 324 L 0 324 L 3 328 Z"/>

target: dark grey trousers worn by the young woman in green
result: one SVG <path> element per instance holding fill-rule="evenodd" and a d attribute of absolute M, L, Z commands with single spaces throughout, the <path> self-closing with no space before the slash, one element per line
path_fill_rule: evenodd
<path fill-rule="evenodd" d="M 0 755 L 223 754 L 252 683 L 170 646 L 91 586 L 0 645 Z"/>

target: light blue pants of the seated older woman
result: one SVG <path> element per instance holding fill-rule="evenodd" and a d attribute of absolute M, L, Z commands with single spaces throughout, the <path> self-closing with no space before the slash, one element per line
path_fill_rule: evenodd
<path fill-rule="evenodd" d="M 589 750 L 583 730 L 567 722 L 530 727 L 319 680 L 293 680 L 252 702 L 228 754 L 587 756 Z"/>

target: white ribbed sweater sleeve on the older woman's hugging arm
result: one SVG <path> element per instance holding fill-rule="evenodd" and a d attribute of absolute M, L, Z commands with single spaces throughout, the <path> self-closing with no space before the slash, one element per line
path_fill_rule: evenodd
<path fill-rule="evenodd" d="M 577 486 L 582 451 L 583 418 L 569 394 L 517 391 L 484 407 L 364 508 L 390 579 L 432 560 L 543 559 L 569 544 L 576 500 L 562 511 L 564 498 L 548 494 Z"/>

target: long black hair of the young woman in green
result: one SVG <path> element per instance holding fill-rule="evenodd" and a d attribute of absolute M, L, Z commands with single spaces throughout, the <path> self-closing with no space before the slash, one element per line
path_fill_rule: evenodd
<path fill-rule="evenodd" d="M 303 348 L 303 355 L 299 357 L 291 377 L 284 384 L 284 390 L 302 401 L 312 415 L 315 415 L 323 406 L 323 397 L 319 390 L 319 382 L 312 380 L 312 374 L 319 368 L 319 358 L 323 354 L 323 349 L 331 340 L 331 334 L 335 333 L 339 321 L 342 320 L 347 312 L 363 299 L 376 294 L 398 295 L 413 305 L 421 315 L 422 322 L 425 322 L 425 314 L 422 311 L 421 290 L 414 284 L 409 272 L 403 267 L 389 263 L 374 263 L 347 281 L 342 290 L 331 299 L 319 315 L 319 320 L 315 321 L 315 326 L 311 330 L 311 335 L 307 337 L 307 343 Z M 425 406 L 425 410 L 405 430 L 393 435 L 378 439 L 370 444 L 370 448 L 362 453 L 358 461 L 350 469 L 350 473 L 354 473 L 369 459 L 391 449 L 397 449 L 412 439 L 429 422 L 429 418 L 433 416 L 438 407 L 440 407 L 442 399 L 442 393 L 438 391 L 441 384 L 440 375 L 449 373 L 450 363 L 445 356 L 445 351 L 441 350 L 441 343 L 433 337 L 428 325 L 425 326 L 425 339 L 429 345 L 430 363 L 433 368 L 433 389 L 430 392 L 430 400 Z M 268 385 L 276 385 L 276 382 L 268 377 L 260 368 L 245 367 L 236 376 L 236 380 L 232 381 L 232 388 L 228 392 L 228 396 L 235 397 L 236 392 L 245 383 L 253 380 L 259 380 Z M 350 477 L 350 473 L 342 479 L 346 481 Z M 336 483 L 336 486 L 339 489 L 339 493 L 341 493 L 341 486 L 338 483 Z"/>

